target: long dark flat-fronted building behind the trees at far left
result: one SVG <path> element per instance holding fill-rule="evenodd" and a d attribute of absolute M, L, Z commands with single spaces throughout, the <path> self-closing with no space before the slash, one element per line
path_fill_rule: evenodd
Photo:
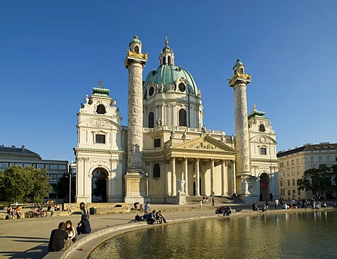
<path fill-rule="evenodd" d="M 70 175 L 70 172 L 72 172 L 68 161 L 44 160 L 38 153 L 34 153 L 33 151 L 26 149 L 23 145 L 21 148 L 17 148 L 15 146 L 6 147 L 1 145 L 0 172 L 4 172 L 7 168 L 13 165 L 18 165 L 23 168 L 32 166 L 33 168 L 46 169 L 50 177 L 49 183 L 53 187 L 53 190 L 49 193 L 48 199 L 52 199 L 58 203 L 69 201 L 68 194 L 58 194 L 58 192 L 55 191 L 58 179 L 62 175 Z"/>

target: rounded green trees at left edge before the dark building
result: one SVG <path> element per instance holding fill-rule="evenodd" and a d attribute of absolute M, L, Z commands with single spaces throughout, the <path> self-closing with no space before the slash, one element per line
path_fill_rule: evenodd
<path fill-rule="evenodd" d="M 6 201 L 41 202 L 49 191 L 51 185 L 46 170 L 15 165 L 0 174 L 1 199 Z"/>

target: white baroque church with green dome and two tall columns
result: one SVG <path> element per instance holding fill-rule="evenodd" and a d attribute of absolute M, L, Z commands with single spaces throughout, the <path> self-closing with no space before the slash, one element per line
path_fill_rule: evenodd
<path fill-rule="evenodd" d="M 176 65 L 168 43 L 144 81 L 147 53 L 138 37 L 129 44 L 127 127 L 102 81 L 85 97 L 77 113 L 76 201 L 182 204 L 186 196 L 240 193 L 244 201 L 278 196 L 276 134 L 255 105 L 247 114 L 251 75 L 242 61 L 229 80 L 236 136 L 227 136 L 204 126 L 201 89 Z M 100 196 L 94 194 L 98 187 Z"/>

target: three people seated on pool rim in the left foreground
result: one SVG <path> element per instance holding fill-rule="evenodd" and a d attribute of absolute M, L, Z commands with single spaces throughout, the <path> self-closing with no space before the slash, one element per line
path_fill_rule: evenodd
<path fill-rule="evenodd" d="M 79 205 L 81 209 L 81 221 L 78 223 L 77 234 L 89 234 L 91 225 L 89 222 L 89 213 L 85 204 L 82 202 Z M 49 239 L 48 248 L 50 252 L 64 251 L 76 241 L 76 232 L 71 220 L 60 222 L 58 229 L 53 229 L 51 238 Z"/>

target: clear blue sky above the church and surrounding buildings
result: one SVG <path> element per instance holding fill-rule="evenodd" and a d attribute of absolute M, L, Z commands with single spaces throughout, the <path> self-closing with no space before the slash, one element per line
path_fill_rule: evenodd
<path fill-rule="evenodd" d="M 234 134 L 241 58 L 277 150 L 337 141 L 337 1 L 1 1 L 0 144 L 74 160 L 77 112 L 103 80 L 127 124 L 124 58 L 137 34 L 157 68 L 166 35 L 201 89 L 204 125 Z"/>

